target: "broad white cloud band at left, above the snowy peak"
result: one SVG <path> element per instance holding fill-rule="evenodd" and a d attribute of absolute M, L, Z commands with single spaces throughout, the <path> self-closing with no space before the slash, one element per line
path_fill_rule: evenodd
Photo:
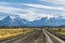
<path fill-rule="evenodd" d="M 8 14 L 20 14 L 22 12 L 29 12 L 25 9 L 18 9 L 18 8 L 10 8 L 10 6 L 1 6 L 0 5 L 0 12 L 1 13 L 8 13 Z"/>

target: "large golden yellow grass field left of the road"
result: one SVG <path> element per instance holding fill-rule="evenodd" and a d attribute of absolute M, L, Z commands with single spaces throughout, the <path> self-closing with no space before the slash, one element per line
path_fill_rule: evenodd
<path fill-rule="evenodd" d="M 16 37 L 18 34 L 25 34 L 27 32 L 31 32 L 34 29 L 22 29 L 22 28 L 16 28 L 16 29 L 0 29 L 0 41 L 6 40 L 13 37 Z"/>

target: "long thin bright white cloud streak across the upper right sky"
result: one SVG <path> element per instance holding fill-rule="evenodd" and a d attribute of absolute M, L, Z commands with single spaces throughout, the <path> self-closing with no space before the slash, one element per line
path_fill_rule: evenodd
<path fill-rule="evenodd" d="M 48 6 L 42 4 L 24 4 L 32 8 L 65 11 L 64 6 Z"/>

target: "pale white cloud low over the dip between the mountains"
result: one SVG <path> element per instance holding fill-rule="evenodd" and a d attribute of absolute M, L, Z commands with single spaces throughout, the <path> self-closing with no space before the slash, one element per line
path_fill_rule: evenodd
<path fill-rule="evenodd" d="M 21 15 L 21 17 L 25 18 L 25 19 L 27 19 L 29 22 L 32 22 L 35 19 L 40 19 L 42 17 L 48 17 L 48 19 L 50 19 L 52 17 L 58 17 L 58 16 L 51 15 L 51 14 L 41 14 L 41 13 L 31 12 L 31 13 L 28 13 L 28 14 Z"/>

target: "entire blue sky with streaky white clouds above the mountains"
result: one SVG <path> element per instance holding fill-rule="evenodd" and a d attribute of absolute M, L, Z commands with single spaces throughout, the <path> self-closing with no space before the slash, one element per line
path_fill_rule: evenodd
<path fill-rule="evenodd" d="M 8 15 L 29 22 L 42 17 L 65 18 L 65 0 L 0 0 L 0 19 Z"/>

